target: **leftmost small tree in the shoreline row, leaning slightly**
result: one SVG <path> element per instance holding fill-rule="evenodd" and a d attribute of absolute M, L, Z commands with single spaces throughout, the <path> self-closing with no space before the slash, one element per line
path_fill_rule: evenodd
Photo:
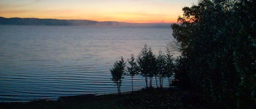
<path fill-rule="evenodd" d="M 116 61 L 114 63 L 114 68 L 110 69 L 111 75 L 112 75 L 112 81 L 117 86 L 117 92 L 118 94 L 121 94 L 121 85 L 122 85 L 122 79 L 123 74 L 125 73 L 126 62 L 124 62 L 123 57 L 121 57 L 120 61 Z"/>

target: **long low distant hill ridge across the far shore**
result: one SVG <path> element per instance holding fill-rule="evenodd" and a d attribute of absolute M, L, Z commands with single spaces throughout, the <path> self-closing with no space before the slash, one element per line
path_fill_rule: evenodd
<path fill-rule="evenodd" d="M 40 18 L 4 18 L 0 17 L 0 25 L 68 25 L 91 27 L 170 27 L 167 23 L 126 23 L 126 22 L 97 22 L 89 20 L 57 20 Z"/>

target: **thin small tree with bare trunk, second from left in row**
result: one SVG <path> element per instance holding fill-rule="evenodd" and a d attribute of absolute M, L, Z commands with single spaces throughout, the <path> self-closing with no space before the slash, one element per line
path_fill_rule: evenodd
<path fill-rule="evenodd" d="M 132 77 L 132 91 L 133 91 L 133 77 L 139 74 L 139 66 L 137 65 L 134 55 L 130 55 L 130 60 L 128 60 L 130 67 L 127 67 L 127 72 Z"/>

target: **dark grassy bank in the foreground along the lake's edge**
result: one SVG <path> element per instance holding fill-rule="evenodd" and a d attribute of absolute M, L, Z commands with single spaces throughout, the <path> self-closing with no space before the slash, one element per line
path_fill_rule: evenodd
<path fill-rule="evenodd" d="M 204 102 L 189 91 L 141 89 L 123 94 L 61 97 L 57 101 L 0 103 L 0 108 L 206 108 Z"/>

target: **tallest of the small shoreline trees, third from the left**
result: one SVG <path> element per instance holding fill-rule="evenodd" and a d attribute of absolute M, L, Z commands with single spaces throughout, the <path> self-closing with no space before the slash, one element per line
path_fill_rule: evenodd
<path fill-rule="evenodd" d="M 153 55 L 151 48 L 148 48 L 146 44 L 141 50 L 137 62 L 139 64 L 140 74 L 145 78 L 146 87 L 148 88 L 148 78 L 150 79 L 150 87 L 152 87 L 152 79 L 154 72 L 156 72 L 156 56 Z"/>

